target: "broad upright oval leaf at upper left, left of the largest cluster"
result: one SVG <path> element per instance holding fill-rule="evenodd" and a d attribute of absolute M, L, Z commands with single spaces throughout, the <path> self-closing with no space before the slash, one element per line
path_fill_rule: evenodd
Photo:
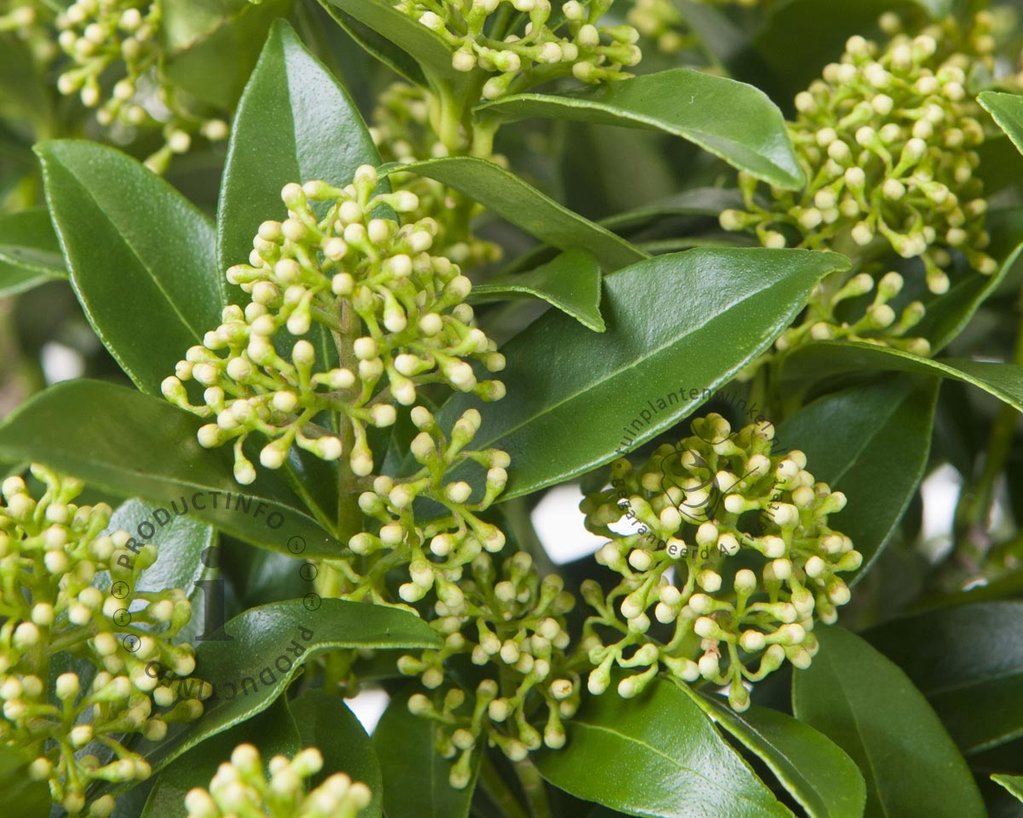
<path fill-rule="evenodd" d="M 224 284 L 206 217 L 135 160 L 94 142 L 43 142 L 46 200 L 72 286 L 100 340 L 160 394 L 185 351 L 220 324 Z"/>

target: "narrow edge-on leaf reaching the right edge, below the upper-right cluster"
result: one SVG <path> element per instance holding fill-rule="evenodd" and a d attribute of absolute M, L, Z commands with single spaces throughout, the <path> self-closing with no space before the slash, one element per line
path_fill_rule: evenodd
<path fill-rule="evenodd" d="M 1023 366 L 963 358 L 933 360 L 873 344 L 818 342 L 792 354 L 783 382 L 845 372 L 910 372 L 961 380 L 1023 412 Z"/>

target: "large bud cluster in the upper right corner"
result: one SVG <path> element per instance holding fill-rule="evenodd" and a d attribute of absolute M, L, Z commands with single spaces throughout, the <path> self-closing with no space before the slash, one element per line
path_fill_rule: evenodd
<path fill-rule="evenodd" d="M 891 31 L 898 20 L 883 24 Z M 772 188 L 762 206 L 756 180 L 741 175 L 746 211 L 724 211 L 722 227 L 754 228 L 771 247 L 846 242 L 866 260 L 890 252 L 919 259 L 937 294 L 948 289 L 953 255 L 993 273 L 976 174 L 983 118 L 968 88 L 991 61 L 990 24 L 979 14 L 966 43 L 953 21 L 895 34 L 883 47 L 850 38 L 842 58 L 796 96 L 790 134 L 807 186 Z"/>

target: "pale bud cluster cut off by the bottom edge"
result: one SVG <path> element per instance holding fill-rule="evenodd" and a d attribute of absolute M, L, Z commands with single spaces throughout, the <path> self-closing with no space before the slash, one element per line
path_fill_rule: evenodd
<path fill-rule="evenodd" d="M 316 747 L 300 751 L 294 759 L 274 756 L 268 769 L 269 776 L 256 747 L 238 744 L 231 760 L 217 769 L 209 789 L 188 790 L 188 818 L 356 818 L 372 800 L 369 787 L 341 772 L 307 792 L 307 780 L 323 769 Z"/>

